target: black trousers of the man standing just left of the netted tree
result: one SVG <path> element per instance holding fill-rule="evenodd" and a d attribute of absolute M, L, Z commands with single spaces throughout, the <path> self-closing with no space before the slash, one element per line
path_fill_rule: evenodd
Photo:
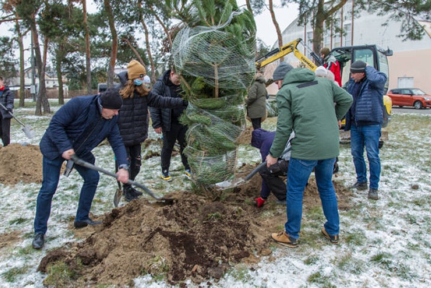
<path fill-rule="evenodd" d="M 180 143 L 181 161 L 183 162 L 184 169 L 190 169 L 189 162 L 186 155 L 184 155 L 184 148 L 187 146 L 186 142 L 187 126 L 181 125 L 178 122 L 170 123 L 170 131 L 163 131 L 163 148 L 161 151 L 161 167 L 162 171 L 169 170 L 170 158 L 172 157 L 172 149 L 174 149 L 175 142 L 178 140 Z"/>

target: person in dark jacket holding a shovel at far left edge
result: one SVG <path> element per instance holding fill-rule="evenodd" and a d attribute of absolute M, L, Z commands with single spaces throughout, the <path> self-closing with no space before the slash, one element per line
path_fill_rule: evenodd
<path fill-rule="evenodd" d="M 13 112 L 14 108 L 14 94 L 9 90 L 9 87 L 4 85 L 3 77 L 0 77 L 0 103 L 3 104 L 8 110 L 0 108 L 0 137 L 2 137 L 3 147 L 11 143 L 11 118 L 9 112 Z"/>

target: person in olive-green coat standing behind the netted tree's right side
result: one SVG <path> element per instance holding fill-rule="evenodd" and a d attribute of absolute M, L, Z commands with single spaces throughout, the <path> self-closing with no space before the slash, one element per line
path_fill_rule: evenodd
<path fill-rule="evenodd" d="M 247 96 L 247 116 L 250 117 L 253 130 L 261 128 L 262 118 L 267 115 L 267 95 L 265 78 L 261 73 L 256 73 Z"/>

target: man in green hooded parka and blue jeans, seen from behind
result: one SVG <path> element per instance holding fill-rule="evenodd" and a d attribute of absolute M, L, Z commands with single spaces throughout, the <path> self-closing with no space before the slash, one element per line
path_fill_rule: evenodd
<path fill-rule="evenodd" d="M 281 63 L 274 71 L 278 85 L 278 121 L 274 142 L 267 156 L 268 167 L 277 161 L 292 130 L 291 157 L 287 173 L 285 231 L 273 233 L 272 239 L 295 248 L 303 210 L 303 192 L 315 169 L 317 188 L 326 223 L 322 234 L 331 243 L 338 243 L 339 217 L 337 198 L 332 185 L 332 170 L 339 154 L 338 120 L 352 105 L 352 95 L 313 71 L 293 69 Z M 335 105 L 334 105 L 335 103 Z"/>

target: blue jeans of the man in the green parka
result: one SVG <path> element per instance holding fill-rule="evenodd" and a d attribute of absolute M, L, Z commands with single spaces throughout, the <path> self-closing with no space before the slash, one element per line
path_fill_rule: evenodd
<path fill-rule="evenodd" d="M 316 177 L 320 200 L 322 201 L 323 214 L 326 217 L 326 223 L 324 224 L 325 230 L 329 235 L 338 235 L 338 205 L 335 189 L 332 185 L 334 163 L 335 158 L 325 160 L 300 160 L 290 158 L 287 172 L 287 222 L 284 225 L 284 229 L 292 238 L 299 238 L 301 218 L 303 216 L 304 189 L 313 168 L 315 168 L 314 175 Z"/>

